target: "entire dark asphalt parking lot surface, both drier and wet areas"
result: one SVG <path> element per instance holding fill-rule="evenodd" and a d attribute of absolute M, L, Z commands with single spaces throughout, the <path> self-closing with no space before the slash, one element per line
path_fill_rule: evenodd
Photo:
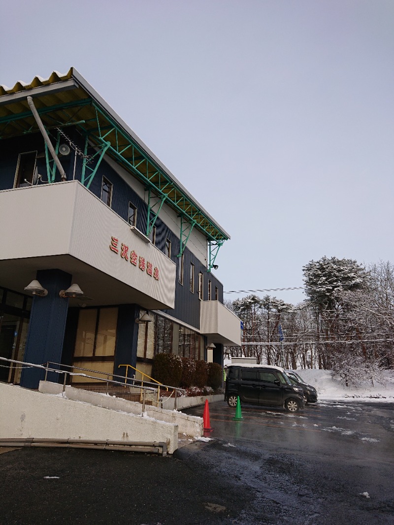
<path fill-rule="evenodd" d="M 295 415 L 245 405 L 239 422 L 234 412 L 212 403 L 212 440 L 172 457 L 0 454 L 0 523 L 394 523 L 394 404 L 320 402 Z"/>

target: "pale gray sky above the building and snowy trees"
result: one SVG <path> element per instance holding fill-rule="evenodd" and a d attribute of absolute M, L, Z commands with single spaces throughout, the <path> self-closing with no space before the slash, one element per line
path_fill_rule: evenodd
<path fill-rule="evenodd" d="M 1 5 L 0 83 L 76 67 L 230 233 L 224 290 L 394 261 L 392 0 Z"/>

